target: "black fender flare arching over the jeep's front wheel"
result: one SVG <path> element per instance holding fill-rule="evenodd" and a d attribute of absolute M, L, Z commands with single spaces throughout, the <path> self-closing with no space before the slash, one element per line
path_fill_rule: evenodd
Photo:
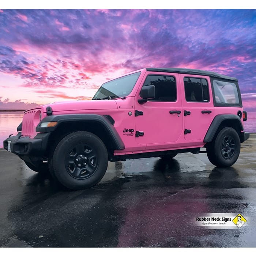
<path fill-rule="evenodd" d="M 54 127 L 40 127 L 41 123 L 45 122 L 57 122 L 57 125 Z M 75 121 L 94 121 L 98 122 L 99 124 L 103 125 L 106 131 L 111 136 L 114 142 L 114 148 L 116 150 L 123 150 L 125 149 L 124 143 L 120 138 L 116 128 L 110 122 L 109 118 L 99 115 L 99 114 L 60 114 L 60 115 L 52 115 L 47 116 L 41 120 L 41 122 L 37 125 L 35 131 L 36 132 L 53 132 L 57 127 L 63 123 L 70 123 Z"/>

